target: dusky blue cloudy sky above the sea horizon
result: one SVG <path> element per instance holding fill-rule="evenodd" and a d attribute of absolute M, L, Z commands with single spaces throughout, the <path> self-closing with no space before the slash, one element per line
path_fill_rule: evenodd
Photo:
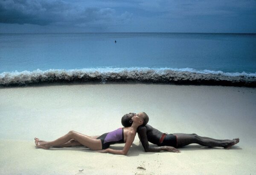
<path fill-rule="evenodd" d="M 0 33 L 256 33 L 256 0 L 0 0 Z"/>

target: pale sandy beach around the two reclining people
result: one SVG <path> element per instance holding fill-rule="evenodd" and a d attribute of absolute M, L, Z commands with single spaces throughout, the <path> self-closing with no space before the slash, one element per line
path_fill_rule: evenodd
<path fill-rule="evenodd" d="M 96 84 L 6 88 L 0 97 L 0 174 L 256 173 L 256 88 Z M 101 135 L 121 127 L 125 113 L 141 111 L 162 132 L 239 137 L 240 143 L 229 150 L 192 144 L 181 153 L 152 153 L 135 138 L 127 156 L 35 148 L 34 137 L 51 141 L 70 130 Z"/>

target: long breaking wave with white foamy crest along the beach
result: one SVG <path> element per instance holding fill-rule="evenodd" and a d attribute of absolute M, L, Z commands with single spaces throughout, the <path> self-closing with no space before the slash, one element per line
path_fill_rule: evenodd
<path fill-rule="evenodd" d="M 136 82 L 194 85 L 223 85 L 256 87 L 255 73 L 229 73 L 191 68 L 93 68 L 49 69 L 42 71 L 3 72 L 0 86 L 27 86 L 41 83 L 68 82 Z"/>

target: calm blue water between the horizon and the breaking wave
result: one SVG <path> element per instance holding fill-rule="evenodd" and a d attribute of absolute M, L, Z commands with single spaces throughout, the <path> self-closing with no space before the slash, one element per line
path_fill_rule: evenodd
<path fill-rule="evenodd" d="M 255 73 L 256 34 L 0 34 L 0 73 L 106 67 Z"/>

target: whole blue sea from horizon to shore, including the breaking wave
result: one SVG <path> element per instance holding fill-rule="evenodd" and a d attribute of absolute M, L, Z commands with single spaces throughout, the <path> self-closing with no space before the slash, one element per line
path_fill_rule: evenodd
<path fill-rule="evenodd" d="M 256 34 L 0 34 L 0 86 L 74 81 L 255 87 Z"/>

